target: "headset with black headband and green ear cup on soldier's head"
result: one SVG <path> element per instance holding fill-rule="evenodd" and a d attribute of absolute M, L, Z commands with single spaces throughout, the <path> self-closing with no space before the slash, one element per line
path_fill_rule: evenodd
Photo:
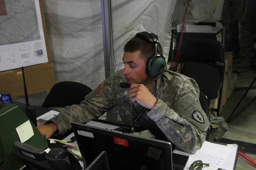
<path fill-rule="evenodd" d="M 151 78 L 160 77 L 166 70 L 166 61 L 162 54 L 159 52 L 158 36 L 151 32 L 137 33 L 143 40 L 156 45 L 156 53 L 150 56 L 146 63 L 146 73 Z"/>

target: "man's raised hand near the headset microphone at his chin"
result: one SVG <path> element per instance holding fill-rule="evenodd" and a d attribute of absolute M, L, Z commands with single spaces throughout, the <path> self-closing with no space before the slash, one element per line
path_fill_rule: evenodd
<path fill-rule="evenodd" d="M 137 102 L 148 109 L 155 107 L 157 98 L 143 84 L 132 84 L 130 87 L 129 98 L 133 104 Z"/>

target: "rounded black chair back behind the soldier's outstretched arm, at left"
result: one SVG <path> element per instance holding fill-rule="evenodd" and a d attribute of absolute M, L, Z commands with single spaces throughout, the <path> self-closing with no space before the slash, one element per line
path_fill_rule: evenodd
<path fill-rule="evenodd" d="M 42 107 L 79 105 L 84 100 L 84 96 L 90 92 L 92 92 L 92 89 L 84 84 L 73 81 L 62 81 L 52 87 Z"/>

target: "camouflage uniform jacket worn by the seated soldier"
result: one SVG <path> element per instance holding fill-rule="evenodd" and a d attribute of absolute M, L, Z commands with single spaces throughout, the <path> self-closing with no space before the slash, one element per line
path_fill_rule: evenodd
<path fill-rule="evenodd" d="M 122 70 L 109 76 L 103 84 L 85 96 L 80 105 L 65 107 L 49 122 L 54 122 L 59 133 L 63 133 L 71 128 L 71 122 L 88 122 L 116 107 L 124 124 L 132 125 L 137 113 L 129 99 L 129 89 L 120 88 L 120 82 L 126 82 Z M 175 146 L 194 153 L 201 148 L 210 125 L 199 104 L 199 88 L 195 80 L 165 71 L 156 86 L 156 106 L 147 110 L 135 126 L 155 124 Z M 151 93 L 154 94 L 155 90 Z M 136 110 L 142 109 L 139 104 L 134 107 Z"/>

